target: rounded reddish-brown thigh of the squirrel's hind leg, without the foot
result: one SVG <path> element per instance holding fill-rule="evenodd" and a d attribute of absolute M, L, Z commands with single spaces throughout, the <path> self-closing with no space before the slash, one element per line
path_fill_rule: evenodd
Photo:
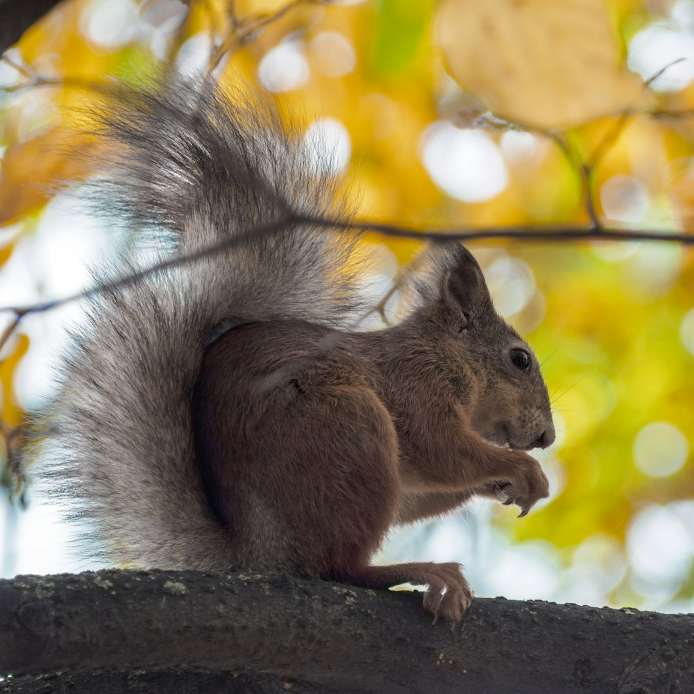
<path fill-rule="evenodd" d="M 255 408 L 221 412 L 237 437 L 220 452 L 216 509 L 243 568 L 314 577 L 362 568 L 396 514 L 390 415 L 347 366 L 332 383 L 320 369 L 265 391 Z"/>

